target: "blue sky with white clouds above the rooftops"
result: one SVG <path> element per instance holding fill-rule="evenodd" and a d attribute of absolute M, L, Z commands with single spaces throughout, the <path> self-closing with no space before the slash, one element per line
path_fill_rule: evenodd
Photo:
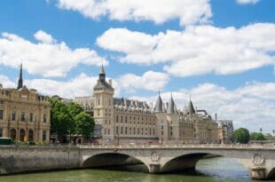
<path fill-rule="evenodd" d="M 0 1 L 0 83 L 67 99 L 92 95 L 99 67 L 114 97 L 275 130 L 274 0 Z"/>

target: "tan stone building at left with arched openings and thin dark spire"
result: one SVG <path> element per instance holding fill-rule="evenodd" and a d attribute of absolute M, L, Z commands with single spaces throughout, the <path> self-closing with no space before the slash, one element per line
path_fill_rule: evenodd
<path fill-rule="evenodd" d="M 0 137 L 49 142 L 50 111 L 46 97 L 23 86 L 22 66 L 17 89 L 0 84 Z"/>

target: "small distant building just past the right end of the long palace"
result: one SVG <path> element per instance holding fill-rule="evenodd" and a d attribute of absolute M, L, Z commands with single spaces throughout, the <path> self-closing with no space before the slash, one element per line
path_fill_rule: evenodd
<path fill-rule="evenodd" d="M 221 144 L 231 144 L 233 142 L 234 127 L 231 120 L 218 120 L 218 138 Z"/>

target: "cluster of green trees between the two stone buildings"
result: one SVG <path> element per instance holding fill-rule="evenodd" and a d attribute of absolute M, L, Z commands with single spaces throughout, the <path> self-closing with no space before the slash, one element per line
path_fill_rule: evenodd
<path fill-rule="evenodd" d="M 51 133 L 56 133 L 61 143 L 66 140 L 68 134 L 83 134 L 85 138 L 90 138 L 94 121 L 84 112 L 83 107 L 75 102 L 67 104 L 59 99 L 50 99 L 50 102 Z"/>

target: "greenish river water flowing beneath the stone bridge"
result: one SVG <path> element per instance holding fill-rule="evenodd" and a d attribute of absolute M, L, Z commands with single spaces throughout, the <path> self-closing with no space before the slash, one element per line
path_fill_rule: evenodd
<path fill-rule="evenodd" d="M 143 166 L 131 166 L 127 170 L 142 170 Z M 248 171 L 234 159 L 217 157 L 200 160 L 196 172 L 177 174 L 146 174 L 133 171 L 67 170 L 18 174 L 0 177 L 0 182 L 248 182 Z M 124 169 L 126 170 L 126 169 Z M 275 180 L 270 180 L 275 181 Z"/>

